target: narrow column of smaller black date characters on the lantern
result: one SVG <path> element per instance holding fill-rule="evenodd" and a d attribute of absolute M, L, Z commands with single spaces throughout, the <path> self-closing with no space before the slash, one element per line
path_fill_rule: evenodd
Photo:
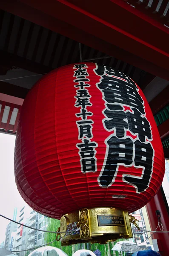
<path fill-rule="evenodd" d="M 76 90 L 76 96 L 74 96 L 76 99 L 74 106 L 80 108 L 80 113 L 76 113 L 75 115 L 81 119 L 76 121 L 76 124 L 79 131 L 78 140 L 82 141 L 82 143 L 77 143 L 76 146 L 79 149 L 81 172 L 83 173 L 97 171 L 95 148 L 98 146 L 97 143 L 91 141 L 93 138 L 92 124 L 94 122 L 88 119 L 93 113 L 87 111 L 87 108 L 92 106 L 90 102 L 91 95 L 88 90 L 90 84 L 85 83 L 90 81 L 87 78 L 89 76 L 87 68 L 88 66 L 86 64 L 75 64 L 73 67 L 74 77 L 76 78 L 74 79 L 74 83 L 76 83 L 74 87 L 79 88 Z"/>

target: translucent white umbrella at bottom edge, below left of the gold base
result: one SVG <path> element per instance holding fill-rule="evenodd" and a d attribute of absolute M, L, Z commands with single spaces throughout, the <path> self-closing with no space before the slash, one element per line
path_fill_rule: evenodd
<path fill-rule="evenodd" d="M 32 253 L 30 253 L 29 256 L 67 256 L 67 254 L 59 248 L 53 246 L 44 246 L 37 248 Z"/>

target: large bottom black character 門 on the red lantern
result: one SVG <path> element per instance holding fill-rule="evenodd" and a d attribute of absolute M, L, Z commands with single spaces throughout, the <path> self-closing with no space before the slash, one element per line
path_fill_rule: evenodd
<path fill-rule="evenodd" d="M 104 163 L 99 183 L 101 186 L 111 186 L 117 176 L 118 167 L 120 165 L 129 167 L 135 166 L 143 169 L 141 177 L 132 175 L 123 175 L 123 180 L 132 184 L 137 189 L 137 192 L 143 192 L 148 184 L 149 177 L 152 172 L 152 157 L 153 148 L 151 143 L 141 143 L 139 140 L 133 142 L 132 139 L 117 139 L 112 136 L 107 140 L 108 157 Z M 135 156 L 133 159 L 133 152 Z M 144 182 L 140 182 L 144 180 Z"/>

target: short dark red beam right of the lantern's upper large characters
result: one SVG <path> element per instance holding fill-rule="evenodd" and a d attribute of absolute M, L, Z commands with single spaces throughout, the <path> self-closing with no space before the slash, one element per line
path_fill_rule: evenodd
<path fill-rule="evenodd" d="M 153 115 L 158 113 L 160 109 L 164 108 L 169 103 L 169 85 L 162 90 L 151 102 L 149 106 L 152 110 Z"/>

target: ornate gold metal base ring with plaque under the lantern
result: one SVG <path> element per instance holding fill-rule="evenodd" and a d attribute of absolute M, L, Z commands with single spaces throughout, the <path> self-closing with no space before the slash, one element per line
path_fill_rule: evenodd
<path fill-rule="evenodd" d="M 67 213 L 60 219 L 60 238 L 63 246 L 78 243 L 100 243 L 132 238 L 130 223 L 137 220 L 127 211 L 100 207 Z M 60 240 L 57 235 L 57 240 Z"/>

